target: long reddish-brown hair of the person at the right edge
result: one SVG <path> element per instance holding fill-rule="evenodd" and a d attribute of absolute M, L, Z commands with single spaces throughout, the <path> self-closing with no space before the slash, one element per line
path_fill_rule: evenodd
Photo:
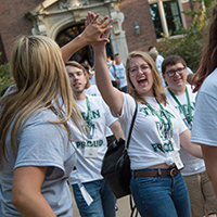
<path fill-rule="evenodd" d="M 196 92 L 205 78 L 217 67 L 217 3 L 213 7 L 212 16 L 208 24 L 207 41 L 203 49 L 200 67 L 193 77 L 192 85 Z"/>

